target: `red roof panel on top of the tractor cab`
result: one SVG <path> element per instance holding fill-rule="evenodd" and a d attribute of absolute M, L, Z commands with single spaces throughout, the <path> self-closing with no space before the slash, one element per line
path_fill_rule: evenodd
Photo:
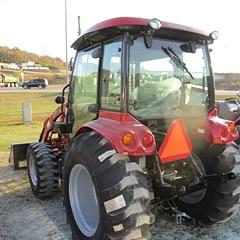
<path fill-rule="evenodd" d="M 73 43 L 72 47 L 74 49 L 82 49 L 87 45 L 93 45 L 97 42 L 107 40 L 108 38 L 117 36 L 127 30 L 131 32 L 146 30 L 150 20 L 151 19 L 136 17 L 119 17 L 105 20 L 83 32 L 83 34 L 81 34 L 80 37 Z M 161 28 L 157 31 L 162 30 L 192 33 L 194 35 L 201 36 L 203 39 L 207 39 L 209 37 L 209 35 L 202 30 L 165 21 L 161 21 Z"/>

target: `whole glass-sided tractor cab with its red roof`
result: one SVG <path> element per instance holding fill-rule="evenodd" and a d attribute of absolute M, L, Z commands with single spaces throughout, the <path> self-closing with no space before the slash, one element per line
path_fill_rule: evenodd
<path fill-rule="evenodd" d="M 140 18 L 107 20 L 83 33 L 73 44 L 77 50 L 69 96 L 73 136 L 106 112 L 140 121 L 160 133 L 155 134 L 157 142 L 179 118 L 190 135 L 196 131 L 204 135 L 202 128 L 215 104 L 208 51 L 214 39 L 215 32 L 208 35 Z"/>

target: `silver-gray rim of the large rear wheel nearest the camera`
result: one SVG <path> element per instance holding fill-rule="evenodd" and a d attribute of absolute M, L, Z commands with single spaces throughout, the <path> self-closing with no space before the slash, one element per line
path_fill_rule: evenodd
<path fill-rule="evenodd" d="M 99 224 L 99 205 L 96 189 L 89 171 L 76 164 L 69 178 L 69 199 L 79 230 L 87 237 L 95 234 Z"/>

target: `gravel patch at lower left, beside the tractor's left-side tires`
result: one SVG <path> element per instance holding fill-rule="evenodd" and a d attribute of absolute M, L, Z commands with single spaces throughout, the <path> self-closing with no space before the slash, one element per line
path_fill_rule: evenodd
<path fill-rule="evenodd" d="M 0 167 L 0 239 L 71 239 L 61 194 L 41 201 L 32 194 L 25 170 Z"/>

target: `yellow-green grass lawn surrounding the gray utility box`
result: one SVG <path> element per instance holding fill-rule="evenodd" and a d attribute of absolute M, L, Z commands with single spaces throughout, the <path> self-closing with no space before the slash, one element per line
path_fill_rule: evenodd
<path fill-rule="evenodd" d="M 43 121 L 57 108 L 57 93 L 0 93 L 0 152 L 10 149 L 11 143 L 37 141 Z M 33 123 L 22 121 L 22 103 L 32 104 Z"/>

